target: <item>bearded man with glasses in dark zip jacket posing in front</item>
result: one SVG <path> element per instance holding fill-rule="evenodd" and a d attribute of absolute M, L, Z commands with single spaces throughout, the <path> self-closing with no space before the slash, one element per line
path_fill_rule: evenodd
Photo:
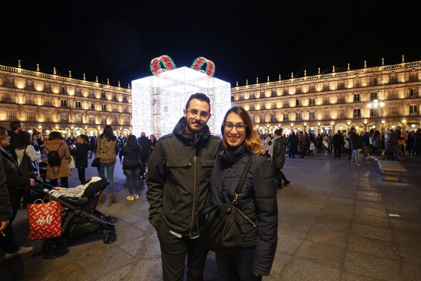
<path fill-rule="evenodd" d="M 149 221 L 161 246 L 163 280 L 203 280 L 208 251 L 200 244 L 198 212 L 210 205 L 210 174 L 220 139 L 210 134 L 210 100 L 190 96 L 172 134 L 159 139 L 149 158 L 146 198 Z"/>

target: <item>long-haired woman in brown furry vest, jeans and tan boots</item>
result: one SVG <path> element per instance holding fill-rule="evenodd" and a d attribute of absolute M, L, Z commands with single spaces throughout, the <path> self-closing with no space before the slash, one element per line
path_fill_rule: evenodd
<path fill-rule="evenodd" d="M 114 194 L 114 166 L 115 157 L 118 153 L 117 137 L 114 135 L 112 126 L 104 127 L 104 132 L 96 141 L 95 159 L 99 158 L 100 165 L 96 167 L 99 177 L 105 177 L 107 169 L 107 179 L 109 180 L 109 204 L 117 202 Z M 105 191 L 99 197 L 99 202 L 105 201 Z"/>

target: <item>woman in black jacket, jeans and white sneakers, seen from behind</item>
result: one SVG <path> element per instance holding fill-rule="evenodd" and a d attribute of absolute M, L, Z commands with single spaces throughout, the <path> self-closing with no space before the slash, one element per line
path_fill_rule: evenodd
<path fill-rule="evenodd" d="M 139 145 L 135 135 L 129 135 L 127 142 L 125 143 L 122 150 L 120 150 L 120 158 L 123 158 L 123 170 L 127 177 L 127 184 L 129 189 L 129 195 L 126 197 L 127 200 L 139 199 L 139 174 L 141 170 L 140 155 L 142 153 L 142 147 Z M 135 192 L 133 196 L 133 190 Z"/>

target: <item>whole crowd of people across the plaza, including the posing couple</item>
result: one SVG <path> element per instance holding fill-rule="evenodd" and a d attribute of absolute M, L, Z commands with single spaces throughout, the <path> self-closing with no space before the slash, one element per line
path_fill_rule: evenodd
<path fill-rule="evenodd" d="M 241 210 L 237 222 L 243 236 L 243 247 L 231 252 L 216 251 L 220 280 L 261 280 L 268 275 L 277 245 L 277 189 L 290 184 L 282 172 L 285 158 L 312 159 L 315 154 L 348 154 L 352 165 L 362 166 L 362 155 L 377 158 L 384 152 L 388 160 L 398 161 L 400 153 L 421 153 L 421 129 L 402 135 L 401 127 L 386 134 L 371 130 L 348 134 L 312 134 L 294 132 L 259 135 L 253 129 L 248 112 L 242 107 L 229 109 L 221 124 L 222 139 L 210 134 L 207 122 L 211 116 L 210 100 L 202 93 L 190 96 L 171 134 L 149 138 L 115 136 L 112 126 L 105 126 L 99 136 L 64 138 L 53 131 L 48 138 L 40 132 L 24 131 L 21 122 L 11 123 L 11 130 L 0 126 L 0 248 L 6 258 L 25 254 L 32 247 L 19 246 L 14 240 L 12 222 L 16 212 L 28 201 L 34 178 L 40 169 L 27 171 L 20 167 L 24 155 L 32 162 L 43 161 L 42 155 L 55 151 L 58 163 L 48 163 L 46 179 L 51 185 L 68 187 L 72 169 L 77 169 L 80 184 L 86 182 L 88 159 L 98 159 L 98 175 L 109 180 L 109 205 L 117 202 L 114 173 L 117 155 L 127 181 L 128 201 L 139 199 L 139 180 L 146 181 L 149 221 L 160 241 L 163 280 L 182 280 L 187 258 L 187 279 L 203 280 L 208 249 L 199 240 L 198 212 L 211 204 L 236 202 Z M 153 153 L 152 153 L 153 152 Z M 240 193 L 236 188 L 247 163 Z M 269 161 L 268 161 L 269 160 Z M 5 164 L 3 164 L 5 163 Z M 147 166 L 147 170 L 146 170 Z M 147 176 L 147 177 L 146 177 Z M 100 202 L 107 201 L 106 191 Z M 251 222 L 251 223 L 250 223 Z"/>

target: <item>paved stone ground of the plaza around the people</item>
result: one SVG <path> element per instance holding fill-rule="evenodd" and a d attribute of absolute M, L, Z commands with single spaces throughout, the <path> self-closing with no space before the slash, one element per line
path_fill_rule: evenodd
<path fill-rule="evenodd" d="M 278 245 L 271 274 L 263 280 L 420 280 L 421 161 L 400 156 L 408 170 L 400 178 L 403 182 L 384 182 L 376 161 L 354 166 L 344 156 L 287 156 L 282 171 L 291 184 L 278 190 Z M 115 219 L 114 243 L 103 244 L 98 231 L 69 244 L 63 257 L 45 260 L 43 241 L 26 241 L 27 210 L 20 210 L 13 222 L 19 244 L 35 249 L 10 260 L 2 254 L 1 280 L 161 280 L 160 246 L 148 221 L 146 183 L 141 182 L 140 198 L 128 201 L 119 161 L 114 174 L 118 203 L 98 205 Z M 97 176 L 96 168 L 89 167 L 86 175 Z M 69 186 L 78 183 L 73 169 Z M 219 280 L 213 253 L 208 255 L 205 280 Z"/>

